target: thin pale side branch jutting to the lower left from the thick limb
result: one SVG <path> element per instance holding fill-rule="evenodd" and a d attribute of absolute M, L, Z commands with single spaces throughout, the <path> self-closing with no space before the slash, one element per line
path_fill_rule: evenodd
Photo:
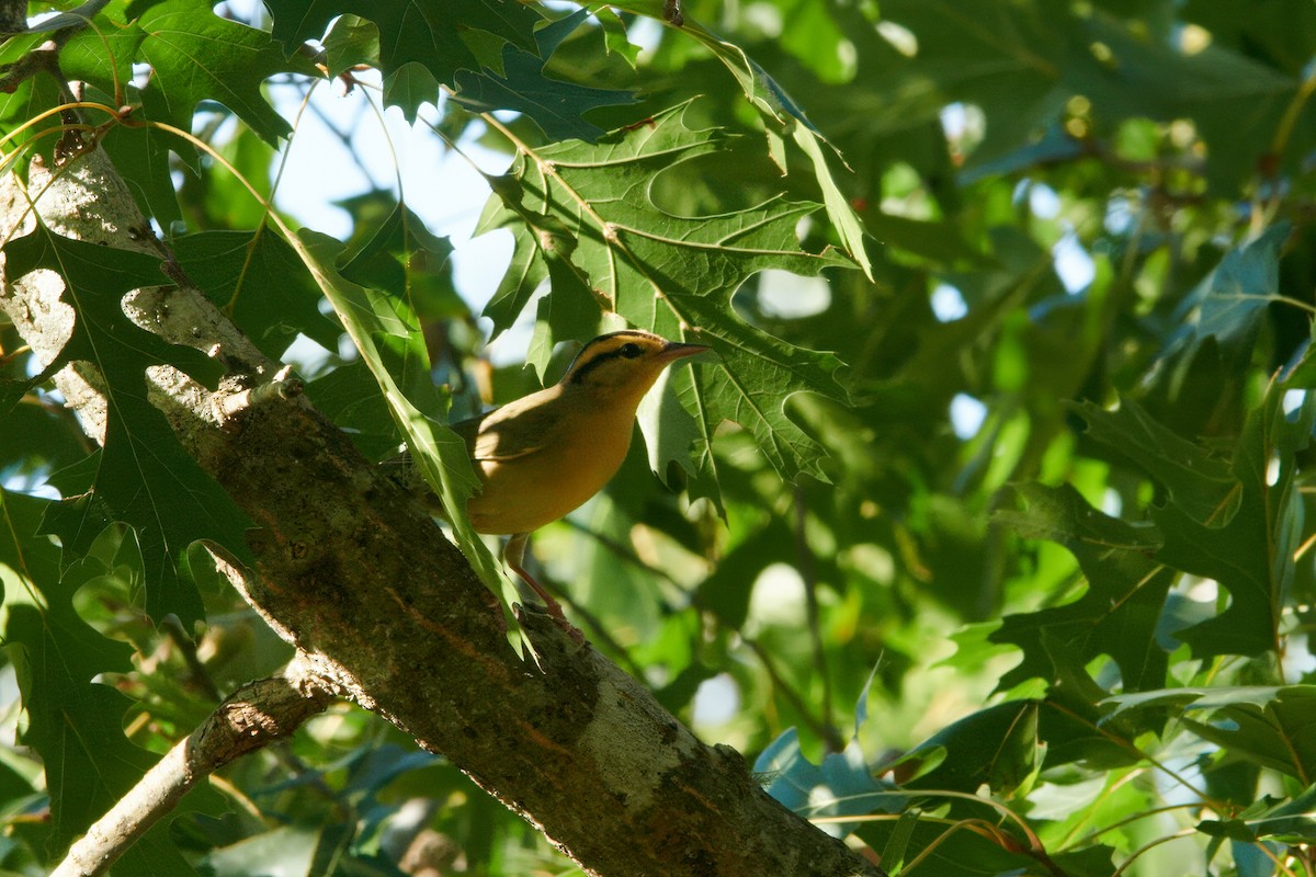
<path fill-rule="evenodd" d="M 287 677 L 247 682 L 155 763 L 109 813 L 74 841 L 51 877 L 104 874 L 188 792 L 224 765 L 286 738 L 329 705 L 329 693 L 293 661 Z"/>

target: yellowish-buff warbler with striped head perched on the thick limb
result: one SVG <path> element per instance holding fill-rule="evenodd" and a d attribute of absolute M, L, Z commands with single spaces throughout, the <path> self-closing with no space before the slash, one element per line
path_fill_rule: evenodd
<path fill-rule="evenodd" d="M 630 448 L 640 400 L 670 363 L 705 350 L 637 330 L 600 335 L 557 384 L 451 425 L 480 479 L 471 525 L 512 536 L 508 567 L 554 615 L 562 607 L 521 565 L 526 538 L 603 489 Z"/>

